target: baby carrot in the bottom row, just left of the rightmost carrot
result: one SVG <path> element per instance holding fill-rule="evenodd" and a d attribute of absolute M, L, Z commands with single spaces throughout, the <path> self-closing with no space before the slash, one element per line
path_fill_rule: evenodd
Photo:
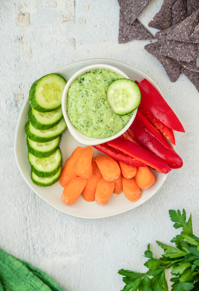
<path fill-rule="evenodd" d="M 129 201 L 137 201 L 141 197 L 140 188 L 135 182 L 135 178 L 127 179 L 122 177 L 124 196 Z"/>

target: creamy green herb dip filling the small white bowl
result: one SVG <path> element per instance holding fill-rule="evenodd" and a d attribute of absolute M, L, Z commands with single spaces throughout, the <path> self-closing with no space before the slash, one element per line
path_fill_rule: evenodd
<path fill-rule="evenodd" d="M 133 112 L 115 114 L 107 99 L 108 85 L 123 76 L 109 70 L 92 70 L 82 74 L 69 87 L 67 114 L 72 125 L 87 137 L 105 138 L 119 132 Z"/>

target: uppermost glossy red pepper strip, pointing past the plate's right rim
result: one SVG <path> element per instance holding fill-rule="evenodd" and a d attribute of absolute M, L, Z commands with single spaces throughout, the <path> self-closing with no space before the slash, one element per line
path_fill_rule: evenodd
<path fill-rule="evenodd" d="M 142 80 L 138 84 L 138 87 L 141 92 L 140 105 L 144 107 L 150 115 L 155 116 L 158 120 L 173 130 L 185 132 L 180 120 L 171 107 L 168 106 L 164 98 L 146 79 Z"/>

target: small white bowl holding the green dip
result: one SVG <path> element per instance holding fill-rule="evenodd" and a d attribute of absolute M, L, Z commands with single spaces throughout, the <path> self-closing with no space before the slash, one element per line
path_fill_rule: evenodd
<path fill-rule="evenodd" d="M 78 141 L 79 143 L 82 143 L 84 145 L 98 145 L 100 143 L 106 143 L 107 141 L 112 141 L 113 139 L 116 139 L 118 136 L 121 136 L 124 132 L 127 131 L 127 129 L 130 127 L 130 125 L 132 125 L 133 120 L 135 119 L 136 113 L 137 113 L 137 109 L 134 110 L 134 113 L 131 117 L 131 119 L 129 120 L 129 122 L 125 125 L 125 127 L 123 127 L 123 129 L 121 129 L 118 133 L 110 136 L 110 137 L 106 137 L 103 139 L 95 139 L 92 137 L 87 137 L 84 134 L 82 134 L 81 132 L 79 132 L 70 122 L 69 118 L 68 118 L 68 114 L 66 111 L 66 104 L 67 104 L 67 93 L 68 93 L 68 89 L 71 86 L 71 84 L 73 83 L 73 81 L 75 81 L 80 75 L 90 71 L 90 70 L 96 70 L 96 69 L 104 69 L 104 70 L 110 70 L 113 71 L 117 74 L 122 75 L 125 79 L 130 79 L 124 72 L 122 72 L 121 70 L 110 66 L 110 65 L 105 65 L 105 64 L 96 64 L 96 65 L 89 65 L 86 66 L 80 70 L 78 70 L 75 74 L 73 74 L 73 76 L 67 81 L 66 86 L 64 87 L 64 91 L 62 94 L 62 112 L 63 112 L 63 116 L 64 119 L 66 121 L 67 127 L 69 129 L 69 132 L 71 133 L 71 135 L 74 137 L 74 139 L 76 139 L 76 141 Z M 135 81 L 135 80 L 134 80 Z"/>

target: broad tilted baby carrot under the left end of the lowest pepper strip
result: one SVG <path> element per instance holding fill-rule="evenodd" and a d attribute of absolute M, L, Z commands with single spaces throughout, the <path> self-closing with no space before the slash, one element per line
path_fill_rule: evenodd
<path fill-rule="evenodd" d="M 117 179 L 120 175 L 120 167 L 117 162 L 108 156 L 96 157 L 96 163 L 100 169 L 102 177 L 106 181 L 113 181 Z"/>

